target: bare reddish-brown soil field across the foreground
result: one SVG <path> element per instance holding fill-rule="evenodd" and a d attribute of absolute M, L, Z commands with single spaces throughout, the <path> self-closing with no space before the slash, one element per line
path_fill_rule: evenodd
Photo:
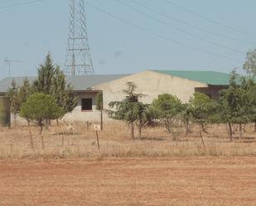
<path fill-rule="evenodd" d="M 2 160 L 0 205 L 256 205 L 256 159 Z"/>

